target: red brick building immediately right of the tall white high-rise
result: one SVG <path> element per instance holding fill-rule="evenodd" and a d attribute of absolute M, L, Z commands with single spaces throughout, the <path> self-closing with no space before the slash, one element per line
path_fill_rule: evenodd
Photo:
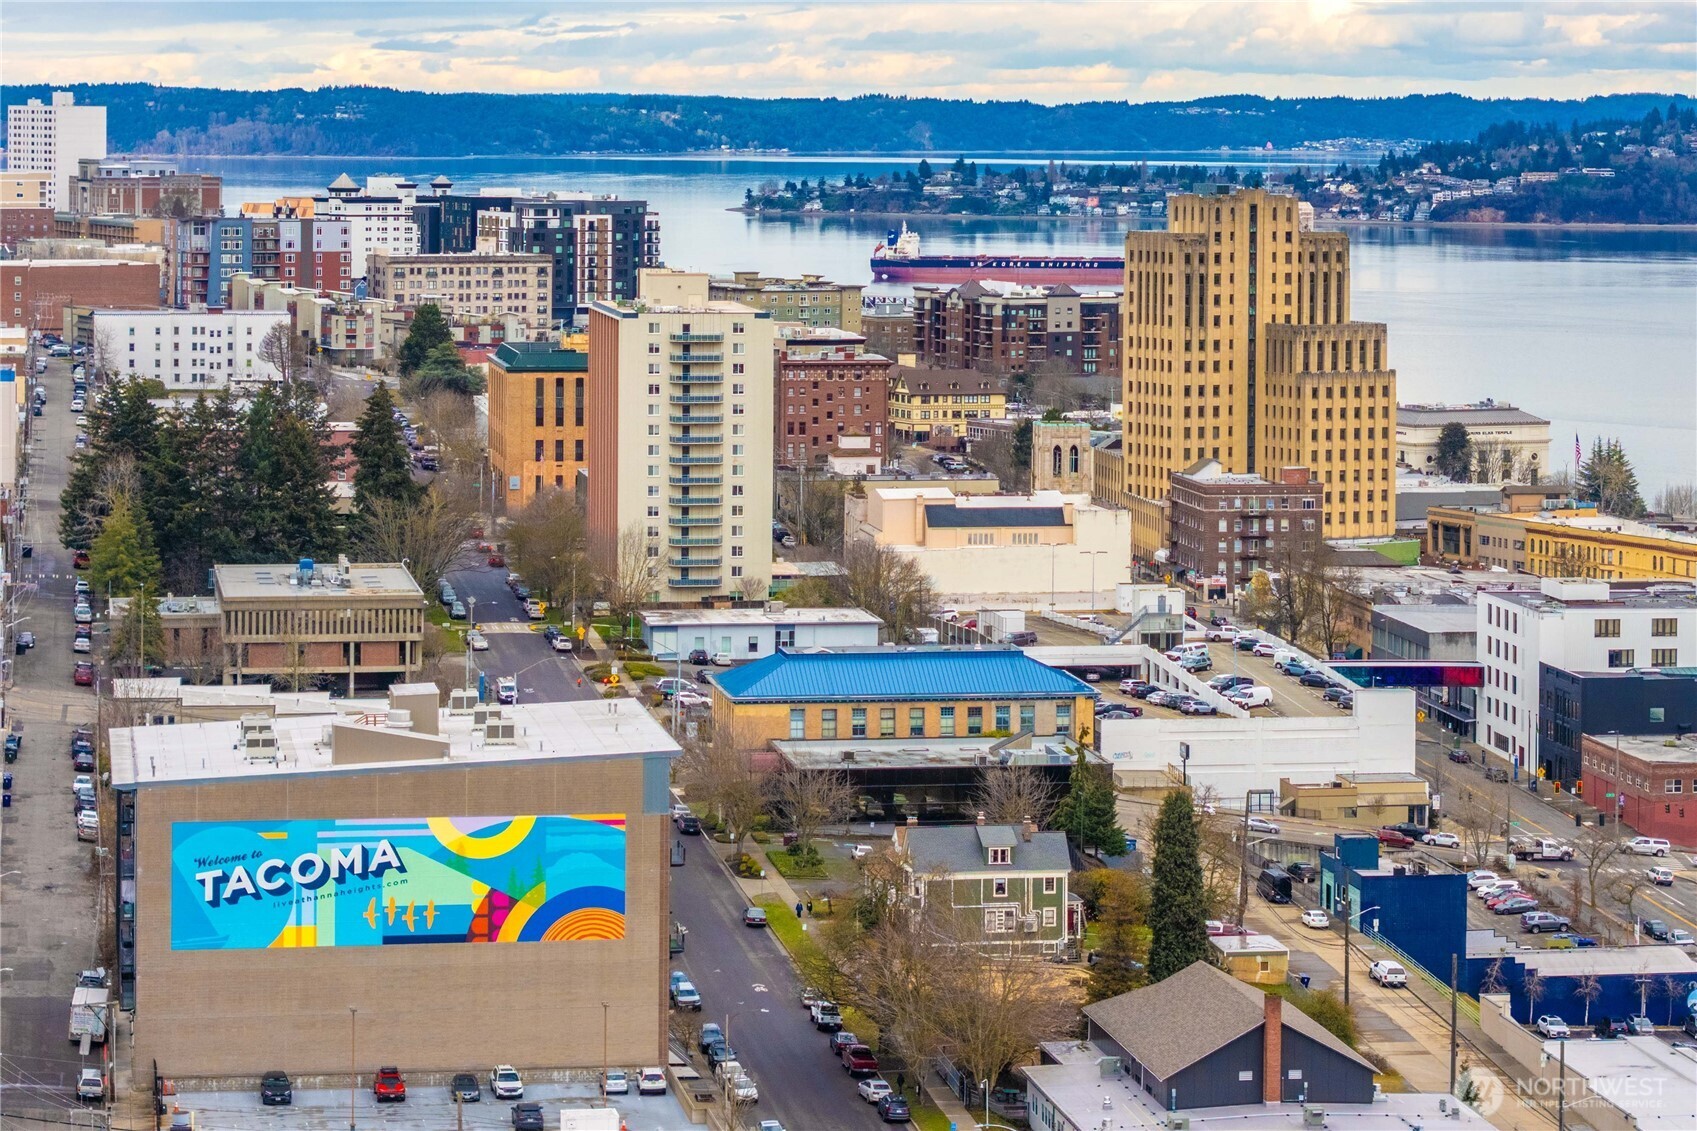
<path fill-rule="evenodd" d="M 772 362 L 772 452 L 781 464 L 816 464 L 838 436 L 864 435 L 882 457 L 889 430 L 889 358 L 847 329 L 803 329 L 777 340 Z"/>

